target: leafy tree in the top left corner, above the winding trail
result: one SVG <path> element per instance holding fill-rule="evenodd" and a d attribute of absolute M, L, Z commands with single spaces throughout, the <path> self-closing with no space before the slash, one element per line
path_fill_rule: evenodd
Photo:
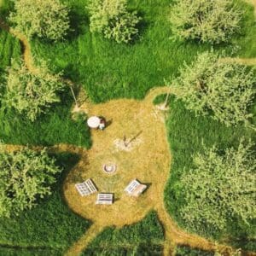
<path fill-rule="evenodd" d="M 26 36 L 59 40 L 67 35 L 67 7 L 59 0 L 15 0 L 15 12 L 9 20 Z"/>

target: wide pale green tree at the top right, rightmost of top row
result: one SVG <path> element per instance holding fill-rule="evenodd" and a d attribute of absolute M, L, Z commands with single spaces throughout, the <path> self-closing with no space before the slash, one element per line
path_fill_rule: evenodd
<path fill-rule="evenodd" d="M 239 32 L 241 16 L 232 0 L 176 0 L 170 21 L 176 39 L 218 44 Z"/>

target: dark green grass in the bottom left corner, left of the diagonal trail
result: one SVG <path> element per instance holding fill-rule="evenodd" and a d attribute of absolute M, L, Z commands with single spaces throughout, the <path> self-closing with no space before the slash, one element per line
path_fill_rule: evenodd
<path fill-rule="evenodd" d="M 63 255 L 89 228 L 90 223 L 74 214 L 62 198 L 63 180 L 79 158 L 67 153 L 56 154 L 55 158 L 64 171 L 55 176 L 57 183 L 51 189 L 52 195 L 40 199 L 36 207 L 19 216 L 0 218 L 0 243 L 9 246 L 2 247 L 0 254 Z"/>

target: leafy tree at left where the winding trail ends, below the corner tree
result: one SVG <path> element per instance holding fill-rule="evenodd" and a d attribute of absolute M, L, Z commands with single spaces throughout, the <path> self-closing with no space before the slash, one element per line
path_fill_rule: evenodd
<path fill-rule="evenodd" d="M 63 90 L 60 73 L 50 74 L 42 62 L 40 72 L 31 73 L 24 63 L 13 61 L 8 68 L 6 92 L 3 97 L 5 108 L 15 108 L 34 121 L 38 115 L 54 102 L 60 102 L 57 92 Z"/>

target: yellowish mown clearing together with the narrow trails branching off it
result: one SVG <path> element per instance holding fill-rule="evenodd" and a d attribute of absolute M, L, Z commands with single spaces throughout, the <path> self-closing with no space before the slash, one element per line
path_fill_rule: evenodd
<path fill-rule="evenodd" d="M 256 0 L 253 0 L 253 2 L 256 4 Z M 20 39 L 26 67 L 32 73 L 38 73 L 38 67 L 34 66 L 32 51 L 27 38 L 19 32 L 15 32 L 13 29 L 9 29 L 3 21 L 0 21 L 0 27 L 8 30 L 15 37 Z M 255 59 L 242 59 L 242 61 L 248 65 L 254 65 L 256 62 Z M 67 82 L 70 84 L 70 81 Z M 81 106 L 81 109 L 86 109 L 90 114 L 102 114 L 107 117 L 107 119 L 113 119 L 113 124 L 103 133 L 99 131 L 92 132 L 93 147 L 88 151 L 84 148 L 67 144 L 59 144 L 49 148 L 49 150 L 55 152 L 68 151 L 80 155 L 81 160 L 79 164 L 69 173 L 64 183 L 64 195 L 68 206 L 71 207 L 74 212 L 79 213 L 79 215 L 84 218 L 90 218 L 93 221 L 92 226 L 87 230 L 84 236 L 69 248 L 67 255 L 79 255 L 79 253 L 84 250 L 84 247 L 86 247 L 104 227 L 114 224 L 118 228 L 121 228 L 125 224 L 132 224 L 144 218 L 151 209 L 158 212 L 160 222 L 165 229 L 165 255 L 171 255 L 175 244 L 183 244 L 205 250 L 218 249 L 222 252 L 230 252 L 232 250 L 228 246 L 216 245 L 213 241 L 207 241 L 205 238 L 181 230 L 166 212 L 163 195 L 170 172 L 171 154 L 166 139 L 165 115 L 153 106 L 152 101 L 155 96 L 166 93 L 167 91 L 169 91 L 169 89 L 166 87 L 155 88 L 151 90 L 144 101 L 141 102 L 125 99 L 97 105 L 86 102 Z M 113 140 L 123 137 L 124 131 L 127 136 L 131 138 L 137 131 L 141 130 L 141 144 L 137 145 L 131 152 L 127 153 L 113 150 Z M 7 150 L 17 150 L 21 147 L 22 146 L 15 145 L 6 146 Z M 34 148 L 40 149 L 41 147 Z M 137 161 L 138 157 L 141 157 L 139 161 Z M 108 182 L 107 184 L 104 182 L 107 177 L 104 177 L 103 174 L 99 172 L 97 173 L 96 170 L 104 160 L 109 159 L 114 160 L 121 166 L 121 171 L 118 174 L 122 179 L 118 179 L 118 181 L 124 181 L 119 184 L 116 183 L 114 176 L 108 177 L 109 181 L 115 184 L 111 189 L 116 189 L 115 192 L 119 196 L 119 201 L 116 201 L 111 207 L 97 208 L 94 205 L 94 197 L 88 200 L 83 199 L 82 201 L 78 193 L 74 190 L 73 178 L 78 175 L 84 178 L 96 173 L 94 174 L 96 177 L 93 177 L 96 179 L 96 183 L 100 184 L 102 189 L 107 189 Z M 136 172 L 131 171 L 134 169 Z M 151 186 L 137 201 L 132 201 L 121 193 L 121 188 L 123 188 L 131 177 L 135 177 L 135 175 L 143 182 L 151 183 Z M 120 211 L 122 212 L 122 218 L 118 218 Z M 106 218 L 106 216 L 108 216 L 108 218 Z M 255 253 L 246 252 L 243 252 L 243 254 L 256 255 Z"/>

